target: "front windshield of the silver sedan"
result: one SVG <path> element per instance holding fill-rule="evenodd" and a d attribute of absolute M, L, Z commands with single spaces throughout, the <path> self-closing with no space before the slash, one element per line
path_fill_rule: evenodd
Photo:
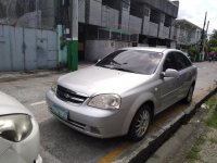
<path fill-rule="evenodd" d="M 151 75 L 155 72 L 162 53 L 145 50 L 118 50 L 95 65 L 124 72 Z"/>

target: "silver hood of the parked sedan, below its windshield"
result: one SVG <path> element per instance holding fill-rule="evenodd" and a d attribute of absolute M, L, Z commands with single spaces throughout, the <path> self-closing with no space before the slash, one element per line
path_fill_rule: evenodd
<path fill-rule="evenodd" d="M 152 76 L 89 66 L 60 77 L 58 84 L 87 96 L 94 93 L 122 95 L 150 80 Z"/>

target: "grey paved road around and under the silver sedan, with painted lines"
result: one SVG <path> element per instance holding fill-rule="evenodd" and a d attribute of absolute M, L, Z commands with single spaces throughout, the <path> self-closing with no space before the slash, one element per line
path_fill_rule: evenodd
<path fill-rule="evenodd" d="M 217 79 L 217 63 L 197 63 L 199 79 L 195 86 L 194 100 L 201 93 L 210 89 Z M 51 75 L 40 78 L 28 78 L 25 80 L 15 80 L 10 83 L 1 83 L 0 90 L 4 91 L 26 105 L 36 116 L 40 124 L 41 131 L 41 149 L 40 153 L 44 163 L 93 163 L 112 161 L 127 148 L 130 142 L 126 138 L 114 139 L 97 139 L 63 125 L 52 117 L 48 112 L 44 93 L 50 88 L 52 82 L 60 75 Z M 176 110 L 169 110 L 164 113 L 152 125 L 150 133 L 159 128 L 162 124 L 166 124 L 174 115 L 176 115 L 182 104 L 176 104 Z"/>

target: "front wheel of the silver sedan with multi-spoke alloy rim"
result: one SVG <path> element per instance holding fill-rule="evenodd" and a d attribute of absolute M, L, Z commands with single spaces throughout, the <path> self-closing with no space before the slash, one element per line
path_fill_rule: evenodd
<path fill-rule="evenodd" d="M 130 140 L 139 141 L 144 138 L 151 122 L 150 111 L 150 105 L 145 104 L 136 113 L 128 131 Z"/>

